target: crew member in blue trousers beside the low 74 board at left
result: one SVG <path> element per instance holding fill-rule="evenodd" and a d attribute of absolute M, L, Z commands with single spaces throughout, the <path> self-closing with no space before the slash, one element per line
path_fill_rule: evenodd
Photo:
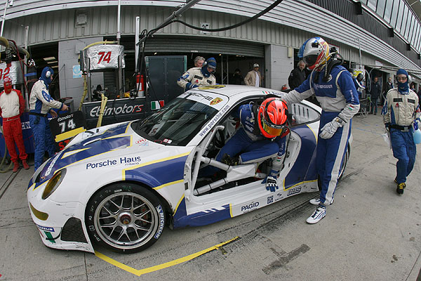
<path fill-rule="evenodd" d="M 51 98 L 48 88 L 53 81 L 53 69 L 44 67 L 41 77 L 32 87 L 31 96 L 29 98 L 29 125 L 32 133 L 34 133 L 35 153 L 34 168 L 41 166 L 44 162 L 44 152 L 52 157 L 55 153 L 53 136 L 51 136 L 50 125 L 48 124 L 47 113 L 50 112 L 53 117 L 57 117 L 57 113 L 51 109 L 68 110 L 67 105 L 60 103 Z"/>

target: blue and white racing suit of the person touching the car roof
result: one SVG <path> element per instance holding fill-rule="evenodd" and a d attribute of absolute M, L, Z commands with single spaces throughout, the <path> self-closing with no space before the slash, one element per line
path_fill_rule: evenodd
<path fill-rule="evenodd" d="M 314 70 L 309 79 L 282 99 L 290 105 L 315 94 L 322 108 L 318 135 L 321 135 L 325 125 L 338 119 L 337 117 L 342 120 L 341 126 L 332 137 L 318 138 L 316 148 L 316 169 L 321 181 L 320 202 L 331 204 L 351 134 L 351 119 L 359 111 L 359 98 L 352 75 L 345 67 L 332 67 L 327 81 L 323 81 L 323 74 L 324 68 L 319 75 Z"/>

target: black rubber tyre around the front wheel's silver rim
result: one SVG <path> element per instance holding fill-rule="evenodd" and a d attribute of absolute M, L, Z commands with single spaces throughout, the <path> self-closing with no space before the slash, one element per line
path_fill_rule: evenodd
<path fill-rule="evenodd" d="M 98 231 L 95 228 L 95 211 L 98 208 L 98 206 L 102 203 L 103 200 L 105 200 L 105 198 L 109 197 L 110 195 L 118 195 L 122 192 L 133 192 L 136 195 L 141 195 L 142 197 L 145 197 L 145 199 L 147 199 L 154 206 L 154 209 L 158 215 L 158 219 L 156 221 L 158 226 L 156 228 L 154 227 L 154 231 L 150 235 L 148 235 L 147 239 L 149 239 L 149 241 L 133 249 L 121 249 L 118 247 L 113 247 L 112 245 L 102 240 L 102 237 L 98 234 Z M 140 185 L 135 185 L 133 183 L 114 183 L 112 185 L 98 190 L 88 201 L 85 211 L 86 230 L 88 231 L 88 235 L 91 237 L 91 241 L 93 243 L 100 244 L 101 246 L 106 247 L 108 249 L 112 249 L 112 251 L 117 251 L 121 253 L 132 253 L 142 251 L 143 249 L 147 249 L 148 247 L 152 246 L 152 244 L 154 244 L 156 240 L 158 240 L 159 237 L 161 237 L 163 228 L 166 223 L 165 220 L 165 209 L 163 208 L 163 204 L 161 204 L 156 195 L 154 195 L 154 193 L 148 190 L 147 188 L 142 187 Z"/>

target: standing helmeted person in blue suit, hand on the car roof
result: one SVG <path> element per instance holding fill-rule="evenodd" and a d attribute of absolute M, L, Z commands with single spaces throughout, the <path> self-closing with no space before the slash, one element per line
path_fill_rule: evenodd
<path fill-rule="evenodd" d="M 326 216 L 326 206 L 333 203 L 333 193 L 342 159 L 351 133 L 351 119 L 359 111 L 359 98 L 352 75 L 335 60 L 329 45 L 320 37 L 308 39 L 298 56 L 303 58 L 312 73 L 301 86 L 282 99 L 290 105 L 316 95 L 322 108 L 319 140 L 316 148 L 316 169 L 320 180 L 320 197 L 310 200 L 316 210 L 307 223 L 318 223 Z"/>

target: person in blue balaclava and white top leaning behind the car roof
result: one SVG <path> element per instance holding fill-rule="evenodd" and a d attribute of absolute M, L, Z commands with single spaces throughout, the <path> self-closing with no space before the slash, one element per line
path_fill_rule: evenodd
<path fill-rule="evenodd" d="M 178 86 L 185 89 L 193 89 L 199 86 L 215 85 L 216 79 L 213 72 L 216 69 L 215 58 L 208 58 L 202 67 L 192 67 L 182 74 L 177 80 Z"/>

